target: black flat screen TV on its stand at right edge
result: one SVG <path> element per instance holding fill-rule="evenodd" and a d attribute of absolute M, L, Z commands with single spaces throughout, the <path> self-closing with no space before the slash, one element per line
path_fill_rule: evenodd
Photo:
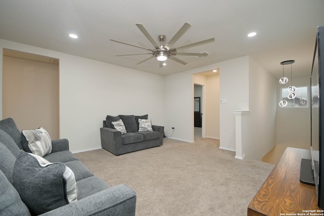
<path fill-rule="evenodd" d="M 318 207 L 324 209 L 324 26 L 318 26 L 310 75 L 310 152 L 302 159 L 300 181 L 316 187 Z"/>

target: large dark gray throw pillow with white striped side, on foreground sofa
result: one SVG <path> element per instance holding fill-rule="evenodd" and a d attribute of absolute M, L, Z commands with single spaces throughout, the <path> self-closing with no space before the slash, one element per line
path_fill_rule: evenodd
<path fill-rule="evenodd" d="M 23 202 L 35 214 L 76 201 L 73 172 L 63 163 L 39 164 L 30 154 L 21 151 L 13 171 L 13 186 Z"/>

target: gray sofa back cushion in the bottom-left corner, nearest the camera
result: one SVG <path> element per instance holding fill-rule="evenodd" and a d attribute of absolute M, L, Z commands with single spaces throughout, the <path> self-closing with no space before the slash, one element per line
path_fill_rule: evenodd
<path fill-rule="evenodd" d="M 17 190 L 0 170 L 0 215 L 30 215 Z"/>

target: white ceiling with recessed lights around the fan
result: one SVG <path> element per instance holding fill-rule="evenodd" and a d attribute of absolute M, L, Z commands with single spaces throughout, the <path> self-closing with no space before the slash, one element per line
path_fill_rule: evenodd
<path fill-rule="evenodd" d="M 323 0 L 0 0 L 0 38 L 159 75 L 250 55 L 279 78 L 280 62 L 295 60 L 293 73 L 300 77 L 310 73 L 323 11 Z M 185 22 L 192 27 L 174 46 L 215 38 L 215 43 L 181 50 L 209 56 L 177 56 L 188 64 L 168 59 L 163 68 L 155 58 L 137 65 L 149 55 L 115 56 L 143 50 L 110 39 L 153 49 L 135 23 L 159 43 L 159 34 L 168 42 Z M 251 31 L 258 34 L 248 38 Z"/>

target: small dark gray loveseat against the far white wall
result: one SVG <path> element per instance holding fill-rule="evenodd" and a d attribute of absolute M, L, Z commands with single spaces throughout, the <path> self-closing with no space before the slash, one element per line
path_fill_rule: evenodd
<path fill-rule="evenodd" d="M 120 119 L 126 127 L 124 134 L 112 125 Z M 164 127 L 151 125 L 152 131 L 139 131 L 139 119 L 148 120 L 148 115 L 108 115 L 100 128 L 101 147 L 114 155 L 121 155 L 163 145 Z"/>

